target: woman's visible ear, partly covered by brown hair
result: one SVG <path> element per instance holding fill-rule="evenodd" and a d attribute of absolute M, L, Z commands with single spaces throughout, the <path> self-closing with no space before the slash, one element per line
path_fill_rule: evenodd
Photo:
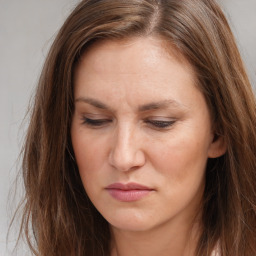
<path fill-rule="evenodd" d="M 209 158 L 217 158 L 224 155 L 227 151 L 227 143 L 223 136 L 214 135 L 212 143 L 208 149 Z"/>

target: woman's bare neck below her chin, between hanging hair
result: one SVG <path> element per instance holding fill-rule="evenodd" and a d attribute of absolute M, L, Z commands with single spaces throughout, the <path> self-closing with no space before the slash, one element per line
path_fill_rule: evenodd
<path fill-rule="evenodd" d="M 147 231 L 111 231 L 111 256 L 194 256 L 200 229 L 198 223 L 165 223 Z"/>

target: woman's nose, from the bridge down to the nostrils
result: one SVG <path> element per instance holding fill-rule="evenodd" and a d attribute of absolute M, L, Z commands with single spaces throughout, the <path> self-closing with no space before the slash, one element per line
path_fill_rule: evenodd
<path fill-rule="evenodd" d="M 143 141 L 136 132 L 125 126 L 116 131 L 109 154 L 109 163 L 119 171 L 135 170 L 145 164 Z M 142 143 L 141 143 L 142 142 Z"/>

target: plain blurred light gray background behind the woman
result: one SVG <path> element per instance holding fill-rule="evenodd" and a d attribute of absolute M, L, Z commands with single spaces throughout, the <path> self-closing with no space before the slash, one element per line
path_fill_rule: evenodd
<path fill-rule="evenodd" d="M 79 0 L 0 0 L 0 256 L 11 252 L 6 233 L 16 207 L 14 179 L 27 122 L 23 121 L 43 60 L 65 17 Z M 256 85 L 256 0 L 219 0 Z M 17 192 L 19 195 L 19 191 Z M 17 197 L 18 198 L 18 197 Z"/>

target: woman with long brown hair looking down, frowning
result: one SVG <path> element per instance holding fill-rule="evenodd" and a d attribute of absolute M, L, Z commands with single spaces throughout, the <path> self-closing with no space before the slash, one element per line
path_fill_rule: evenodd
<path fill-rule="evenodd" d="M 255 255 L 255 117 L 215 1 L 82 1 L 39 81 L 21 232 L 35 255 Z"/>

